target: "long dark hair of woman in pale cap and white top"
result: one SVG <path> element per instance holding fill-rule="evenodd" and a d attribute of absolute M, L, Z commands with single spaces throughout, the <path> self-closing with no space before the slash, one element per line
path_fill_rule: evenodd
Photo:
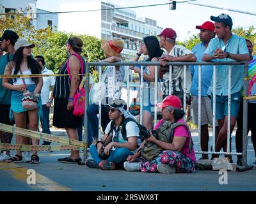
<path fill-rule="evenodd" d="M 15 62 L 15 69 L 14 69 L 14 75 L 17 75 L 17 73 L 20 71 L 20 64 L 22 62 L 23 58 L 23 50 L 24 47 L 20 47 L 14 54 L 13 61 Z M 28 57 L 28 68 L 30 69 L 32 74 L 40 74 L 41 68 L 38 62 L 36 62 L 35 59 L 31 57 L 31 55 Z M 33 82 L 36 82 L 38 78 L 32 78 Z M 13 82 L 16 81 L 16 78 L 13 78 Z"/>

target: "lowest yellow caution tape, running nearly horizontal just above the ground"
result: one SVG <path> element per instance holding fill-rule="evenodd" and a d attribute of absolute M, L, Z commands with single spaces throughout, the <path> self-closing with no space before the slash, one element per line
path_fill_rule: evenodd
<path fill-rule="evenodd" d="M 2 150 L 16 150 L 16 151 L 63 151 L 63 150 L 78 150 L 79 147 L 72 145 L 15 145 L 8 143 L 0 143 Z"/>

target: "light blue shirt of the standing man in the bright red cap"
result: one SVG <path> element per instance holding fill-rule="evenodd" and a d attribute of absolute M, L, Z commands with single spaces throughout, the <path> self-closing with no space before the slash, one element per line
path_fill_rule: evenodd
<path fill-rule="evenodd" d="M 196 61 L 202 61 L 202 57 L 205 52 L 204 42 L 198 43 L 192 49 L 192 52 L 196 56 Z M 207 90 L 211 85 L 213 66 L 201 66 L 201 96 L 207 96 Z M 198 96 L 198 66 L 190 66 L 190 72 L 192 75 L 192 84 L 190 92 L 194 96 Z"/>

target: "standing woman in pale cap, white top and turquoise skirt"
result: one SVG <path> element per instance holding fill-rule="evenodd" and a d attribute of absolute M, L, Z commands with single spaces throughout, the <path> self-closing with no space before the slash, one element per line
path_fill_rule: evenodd
<path fill-rule="evenodd" d="M 31 75 L 31 74 L 40 74 L 41 69 L 38 62 L 31 57 L 31 48 L 35 47 L 34 44 L 29 43 L 26 40 L 19 40 L 15 43 L 15 55 L 13 61 L 9 62 L 6 65 L 4 75 Z M 40 92 L 42 89 L 43 80 L 42 77 L 39 78 L 13 78 L 12 83 L 10 83 L 9 78 L 3 79 L 3 87 L 6 89 L 12 90 L 11 98 L 11 108 L 10 108 L 10 117 L 12 115 L 15 119 L 16 127 L 26 128 L 26 113 L 29 117 L 29 129 L 37 131 L 38 129 L 38 119 L 41 112 L 41 99 Z M 28 110 L 22 103 L 22 95 L 24 91 L 30 91 L 33 94 L 33 98 L 28 96 L 26 101 L 33 103 L 36 99 L 37 103 L 35 104 L 35 109 Z M 16 135 L 17 144 L 26 144 L 30 145 L 29 138 L 24 136 Z M 38 145 L 39 140 L 32 139 L 33 145 Z M 17 154 L 14 157 L 8 159 L 8 163 L 21 163 L 24 162 L 24 157 L 22 157 L 22 152 L 17 151 Z M 39 157 L 37 152 L 33 151 L 31 156 L 30 163 L 39 163 Z"/>

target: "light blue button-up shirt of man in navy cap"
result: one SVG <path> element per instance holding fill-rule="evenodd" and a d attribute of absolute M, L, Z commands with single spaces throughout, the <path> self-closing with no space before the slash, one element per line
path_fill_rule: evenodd
<path fill-rule="evenodd" d="M 249 54 L 248 48 L 246 47 L 246 41 L 240 36 L 232 34 L 231 38 L 227 41 L 227 45 L 223 42 L 222 39 L 213 38 L 205 54 L 212 56 L 213 52 L 221 48 L 225 52 L 230 54 Z M 214 61 L 234 61 L 234 59 L 224 58 L 224 59 L 215 59 Z M 243 65 L 233 65 L 231 68 L 231 94 L 241 91 L 243 87 Z M 212 76 L 213 77 L 213 76 Z M 212 92 L 212 83 L 209 88 L 209 91 Z M 228 66 L 219 65 L 216 66 L 216 95 L 218 96 L 228 96 Z"/>

